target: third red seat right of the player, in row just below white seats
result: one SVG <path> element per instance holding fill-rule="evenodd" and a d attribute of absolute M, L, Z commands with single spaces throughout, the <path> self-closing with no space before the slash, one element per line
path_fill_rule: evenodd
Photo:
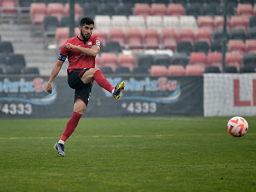
<path fill-rule="evenodd" d="M 139 28 L 127 28 L 126 39 L 130 49 L 143 48 L 143 36 Z"/>

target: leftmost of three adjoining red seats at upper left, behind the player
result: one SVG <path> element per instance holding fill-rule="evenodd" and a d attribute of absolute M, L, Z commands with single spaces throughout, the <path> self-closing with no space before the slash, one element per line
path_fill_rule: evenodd
<path fill-rule="evenodd" d="M 47 7 L 45 3 L 31 3 L 30 5 L 31 19 L 34 25 L 42 25 L 44 17 L 47 15 Z"/>

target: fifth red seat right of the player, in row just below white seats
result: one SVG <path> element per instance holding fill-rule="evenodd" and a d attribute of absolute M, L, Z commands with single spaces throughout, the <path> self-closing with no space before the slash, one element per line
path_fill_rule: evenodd
<path fill-rule="evenodd" d="M 178 41 L 178 34 L 175 29 L 162 29 L 162 42 L 165 49 L 175 50 Z"/>

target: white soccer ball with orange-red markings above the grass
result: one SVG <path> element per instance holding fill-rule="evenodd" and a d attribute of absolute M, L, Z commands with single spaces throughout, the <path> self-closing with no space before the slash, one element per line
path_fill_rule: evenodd
<path fill-rule="evenodd" d="M 234 137 L 242 137 L 248 130 L 248 123 L 243 117 L 232 117 L 228 121 L 228 132 Z"/>

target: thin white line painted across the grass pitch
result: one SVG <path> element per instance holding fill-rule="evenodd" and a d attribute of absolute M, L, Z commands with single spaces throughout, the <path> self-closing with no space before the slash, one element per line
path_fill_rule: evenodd
<path fill-rule="evenodd" d="M 222 133 L 216 133 L 216 134 L 169 134 L 169 135 L 110 135 L 110 136 L 74 136 L 70 138 L 99 138 L 99 137 L 173 137 L 173 136 L 203 136 L 203 135 L 224 135 Z M 247 133 L 246 135 L 256 135 L 256 133 Z M 59 137 L 0 137 L 0 139 L 56 139 Z"/>

